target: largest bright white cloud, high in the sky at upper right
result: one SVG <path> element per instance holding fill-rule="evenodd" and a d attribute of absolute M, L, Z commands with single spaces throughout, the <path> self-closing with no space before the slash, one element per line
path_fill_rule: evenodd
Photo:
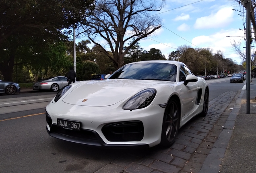
<path fill-rule="evenodd" d="M 209 16 L 204 16 L 196 19 L 194 28 L 222 28 L 229 25 L 233 21 L 232 7 L 223 7 L 218 12 L 212 13 Z"/>

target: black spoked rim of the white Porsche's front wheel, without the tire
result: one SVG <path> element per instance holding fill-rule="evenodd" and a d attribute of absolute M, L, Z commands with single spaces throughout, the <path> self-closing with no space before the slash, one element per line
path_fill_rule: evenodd
<path fill-rule="evenodd" d="M 169 142 L 175 139 L 178 133 L 179 110 L 177 104 L 172 101 L 165 113 L 165 135 Z"/>

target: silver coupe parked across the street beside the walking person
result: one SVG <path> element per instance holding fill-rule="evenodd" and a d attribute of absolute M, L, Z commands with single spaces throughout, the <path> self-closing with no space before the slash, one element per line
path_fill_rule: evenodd
<path fill-rule="evenodd" d="M 33 84 L 33 90 L 58 91 L 68 85 L 68 78 L 65 76 L 49 77 L 39 80 Z"/>

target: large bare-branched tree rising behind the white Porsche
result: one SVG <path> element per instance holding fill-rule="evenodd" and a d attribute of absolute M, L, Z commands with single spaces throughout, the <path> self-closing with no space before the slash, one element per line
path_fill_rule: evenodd
<path fill-rule="evenodd" d="M 116 69 L 120 68 L 124 64 L 124 55 L 130 48 L 161 27 L 160 18 L 157 15 L 150 16 L 149 12 L 161 10 L 164 2 L 165 0 L 98 0 L 93 14 L 81 25 L 81 34 L 86 34 L 91 42 L 99 46 L 113 61 Z M 125 43 L 131 39 L 134 40 L 124 50 Z M 110 47 L 113 56 L 104 44 Z"/>

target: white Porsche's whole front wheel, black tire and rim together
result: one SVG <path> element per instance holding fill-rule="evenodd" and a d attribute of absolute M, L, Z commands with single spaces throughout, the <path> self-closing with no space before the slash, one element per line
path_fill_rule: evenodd
<path fill-rule="evenodd" d="M 163 115 L 162 133 L 161 133 L 161 146 L 171 146 L 180 128 L 180 104 L 177 100 L 171 98 L 165 108 Z"/>

